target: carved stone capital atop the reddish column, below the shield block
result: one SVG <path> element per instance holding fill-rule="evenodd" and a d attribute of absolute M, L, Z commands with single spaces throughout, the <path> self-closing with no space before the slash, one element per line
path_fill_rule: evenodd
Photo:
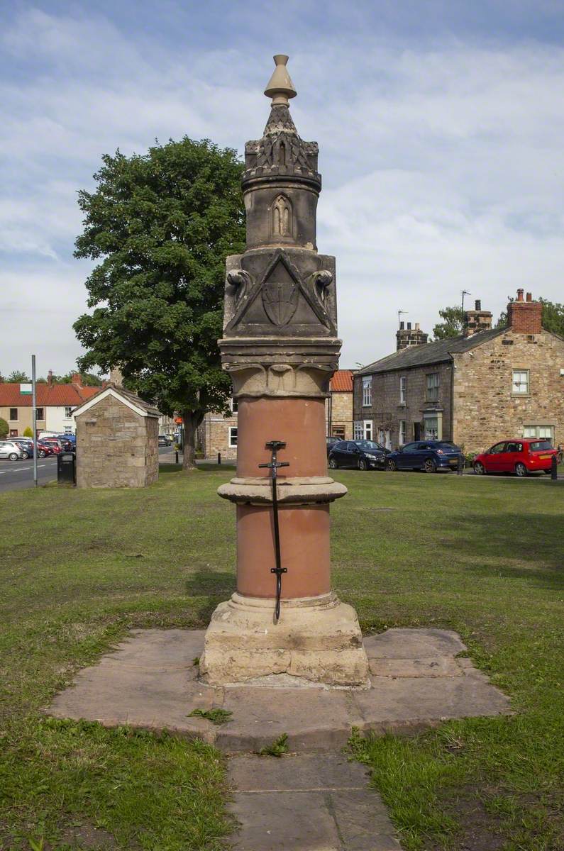
<path fill-rule="evenodd" d="M 341 340 L 245 337 L 220 340 L 219 346 L 236 398 L 325 398 Z"/>

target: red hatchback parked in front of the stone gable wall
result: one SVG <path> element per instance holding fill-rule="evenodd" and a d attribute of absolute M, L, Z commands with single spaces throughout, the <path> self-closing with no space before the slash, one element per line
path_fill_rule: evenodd
<path fill-rule="evenodd" d="M 557 450 L 544 437 L 519 437 L 502 440 L 487 452 L 476 455 L 474 471 L 478 476 L 486 473 L 515 473 L 528 476 L 533 472 L 550 473 L 552 456 Z"/>

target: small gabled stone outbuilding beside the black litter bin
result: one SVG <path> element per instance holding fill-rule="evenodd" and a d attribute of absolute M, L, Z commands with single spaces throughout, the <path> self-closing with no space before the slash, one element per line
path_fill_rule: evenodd
<path fill-rule="evenodd" d="M 157 408 L 110 384 L 74 416 L 78 488 L 145 488 L 157 481 Z"/>

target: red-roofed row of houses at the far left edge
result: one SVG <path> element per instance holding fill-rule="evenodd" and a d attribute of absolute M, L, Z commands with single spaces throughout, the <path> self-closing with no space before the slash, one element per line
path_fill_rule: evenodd
<path fill-rule="evenodd" d="M 49 370 L 47 384 L 36 385 L 37 432 L 74 433 L 74 410 L 100 390 L 83 387 L 80 375 L 70 384 L 54 384 Z M 32 385 L 0 383 L 0 417 L 9 426 L 9 437 L 22 437 L 32 429 Z"/>

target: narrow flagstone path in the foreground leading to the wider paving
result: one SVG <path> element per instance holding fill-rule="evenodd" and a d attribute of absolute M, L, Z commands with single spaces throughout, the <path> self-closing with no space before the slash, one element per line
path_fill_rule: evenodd
<path fill-rule="evenodd" d="M 342 754 L 233 757 L 237 851 L 400 851 L 368 774 Z"/>

